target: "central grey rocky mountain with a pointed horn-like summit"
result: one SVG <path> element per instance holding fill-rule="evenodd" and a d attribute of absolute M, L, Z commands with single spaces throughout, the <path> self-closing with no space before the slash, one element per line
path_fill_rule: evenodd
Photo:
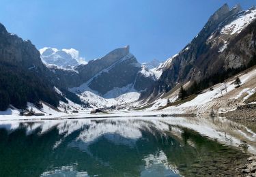
<path fill-rule="evenodd" d="M 128 84 L 132 84 L 135 90 L 142 91 L 156 80 L 154 74 L 130 54 L 129 46 L 117 48 L 100 59 L 74 69 L 83 80 L 81 86 L 75 89 L 78 93 L 89 88 L 104 95 L 113 88 L 122 88 Z"/>

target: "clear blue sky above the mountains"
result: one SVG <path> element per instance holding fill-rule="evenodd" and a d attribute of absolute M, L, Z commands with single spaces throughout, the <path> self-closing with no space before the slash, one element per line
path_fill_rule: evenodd
<path fill-rule="evenodd" d="M 165 61 L 224 3 L 256 0 L 1 0 L 0 22 L 38 49 L 75 48 L 87 61 L 127 44 L 140 62 Z"/>

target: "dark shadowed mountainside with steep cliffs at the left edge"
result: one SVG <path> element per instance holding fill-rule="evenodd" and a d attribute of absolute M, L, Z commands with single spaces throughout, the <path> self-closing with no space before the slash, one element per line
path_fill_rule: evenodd
<path fill-rule="evenodd" d="M 27 101 L 39 100 L 59 104 L 59 95 L 48 80 L 51 72 L 44 66 L 40 53 L 30 41 L 12 35 L 0 24 L 0 97 L 2 110 L 11 103 L 25 108 Z"/>

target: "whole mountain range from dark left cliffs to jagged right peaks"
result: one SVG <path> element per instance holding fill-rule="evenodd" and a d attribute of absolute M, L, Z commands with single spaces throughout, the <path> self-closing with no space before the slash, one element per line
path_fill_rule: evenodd
<path fill-rule="evenodd" d="M 0 98 L 6 100 L 0 110 L 10 103 L 25 108 L 27 102 L 40 100 L 57 107 L 67 99 L 91 108 L 136 107 L 175 86 L 189 88 L 212 77 L 231 76 L 233 70 L 255 64 L 255 18 L 255 7 L 230 10 L 225 4 L 178 54 L 163 63 L 155 59 L 142 64 L 129 46 L 88 63 L 72 48 L 39 52 L 0 24 Z"/>

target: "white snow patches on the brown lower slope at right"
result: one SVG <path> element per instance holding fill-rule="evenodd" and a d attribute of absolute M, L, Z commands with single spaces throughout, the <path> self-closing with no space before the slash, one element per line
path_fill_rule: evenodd
<path fill-rule="evenodd" d="M 252 71 L 248 71 L 248 73 L 245 73 L 245 74 L 240 74 L 238 76 L 242 82 L 241 86 L 246 85 L 250 80 L 255 79 L 256 69 Z M 225 105 L 224 107 L 218 108 L 219 109 L 218 112 L 227 112 L 229 110 L 233 110 L 237 106 L 235 103 L 238 103 L 237 101 L 235 101 L 236 99 L 244 95 L 244 97 L 242 97 L 242 101 L 244 101 L 248 99 L 248 97 L 253 95 L 253 93 L 256 92 L 256 88 L 250 87 L 250 88 L 244 88 L 244 90 L 242 90 L 241 88 L 236 88 L 236 85 L 234 84 L 235 78 L 236 77 L 232 78 L 231 80 L 225 83 L 219 83 L 212 86 L 213 88 L 212 91 L 209 88 L 205 89 L 203 93 L 197 95 L 197 97 L 195 97 L 191 101 L 183 103 L 179 106 L 169 106 L 163 109 L 162 111 L 173 112 L 173 114 L 183 114 L 188 112 L 190 113 L 191 112 L 193 113 L 207 112 L 210 109 L 212 109 L 212 106 L 214 106 L 215 104 L 221 105 L 222 103 L 218 103 L 218 101 L 222 96 L 226 96 L 226 95 L 227 97 L 229 97 L 229 100 L 225 100 L 225 103 L 229 101 L 231 105 L 229 106 Z M 227 88 L 227 92 L 225 88 Z M 241 89 L 240 92 L 236 93 L 237 91 L 239 91 L 239 89 Z M 177 99 L 177 92 L 174 92 L 173 94 L 171 94 L 169 96 L 169 99 L 170 99 L 170 102 L 175 101 Z M 235 103 L 233 103 L 232 99 L 233 101 L 235 101 Z M 154 101 L 154 105 L 151 108 L 147 108 L 147 110 L 157 110 L 158 108 L 161 108 L 166 105 L 167 105 L 167 98 L 160 98 Z"/>

